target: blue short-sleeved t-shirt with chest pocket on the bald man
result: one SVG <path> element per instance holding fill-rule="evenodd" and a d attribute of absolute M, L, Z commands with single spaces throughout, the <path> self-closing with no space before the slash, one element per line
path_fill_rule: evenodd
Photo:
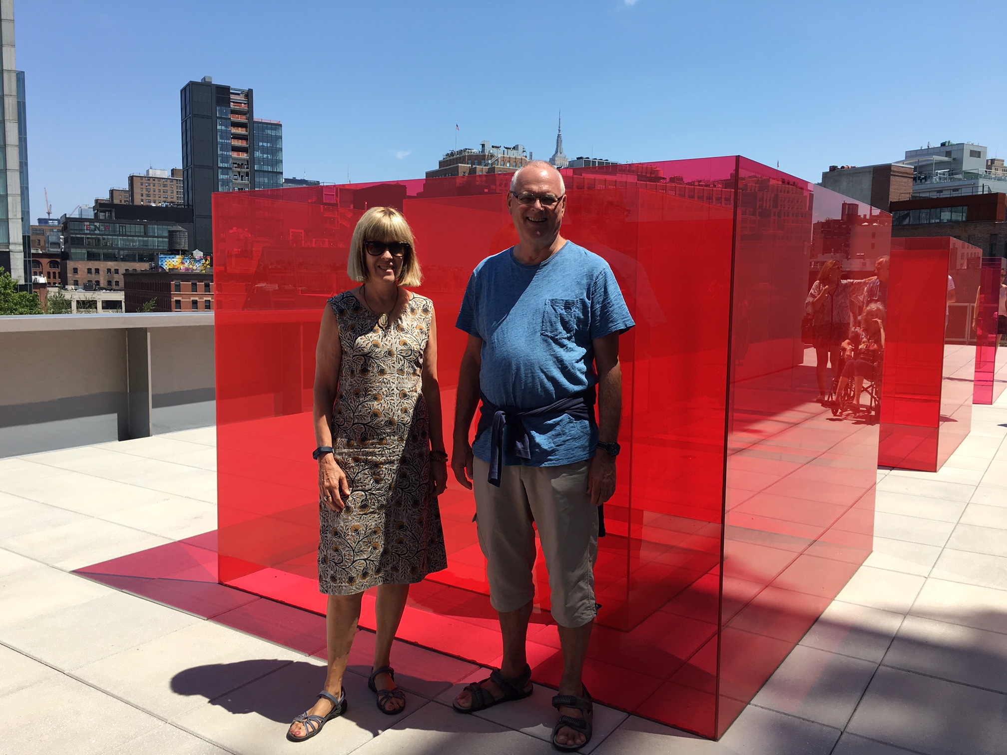
<path fill-rule="evenodd" d="M 571 242 L 538 265 L 518 262 L 514 249 L 487 257 L 468 279 L 456 323 L 482 339 L 482 393 L 517 410 L 545 407 L 594 386 L 591 341 L 632 326 L 608 263 Z M 562 415 L 522 422 L 532 459 L 505 454 L 505 464 L 548 467 L 594 456 L 598 431 L 587 420 Z M 488 429 L 472 453 L 489 462 Z"/>

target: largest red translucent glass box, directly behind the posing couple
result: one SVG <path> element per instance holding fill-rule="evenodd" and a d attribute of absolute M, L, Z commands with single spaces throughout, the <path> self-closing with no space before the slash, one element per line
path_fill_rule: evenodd
<path fill-rule="evenodd" d="M 562 172 L 563 235 L 608 262 L 636 322 L 620 341 L 623 451 L 585 684 L 605 704 L 719 737 L 871 551 L 878 425 L 816 401 L 802 318 L 826 260 L 867 275 L 888 253 L 890 216 L 741 157 Z M 325 300 L 355 285 L 357 218 L 392 205 L 413 228 L 450 427 L 465 343 L 453 323 L 475 265 L 517 242 L 509 184 L 214 194 L 223 583 L 324 612 L 315 341 Z M 452 479 L 440 510 L 448 569 L 413 586 L 400 637 L 497 665 L 471 493 Z M 549 607 L 540 558 L 529 660 L 555 686 Z"/>

